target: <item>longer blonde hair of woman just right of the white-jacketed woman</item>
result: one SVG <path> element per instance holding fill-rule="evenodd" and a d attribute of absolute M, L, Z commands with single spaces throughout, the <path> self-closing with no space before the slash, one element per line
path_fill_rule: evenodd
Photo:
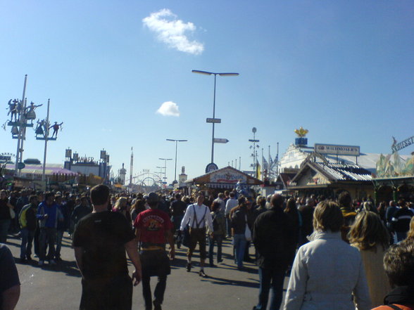
<path fill-rule="evenodd" d="M 375 249 L 382 245 L 385 250 L 389 246 L 389 234 L 380 217 L 372 211 L 361 211 L 357 214 L 348 233 L 349 242 L 360 250 Z"/>

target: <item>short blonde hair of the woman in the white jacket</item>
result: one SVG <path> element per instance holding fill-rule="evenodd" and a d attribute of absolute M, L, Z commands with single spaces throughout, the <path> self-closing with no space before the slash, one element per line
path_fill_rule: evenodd
<path fill-rule="evenodd" d="M 313 212 L 313 228 L 315 231 L 337 232 L 344 224 L 344 217 L 337 202 L 324 200 Z"/>

